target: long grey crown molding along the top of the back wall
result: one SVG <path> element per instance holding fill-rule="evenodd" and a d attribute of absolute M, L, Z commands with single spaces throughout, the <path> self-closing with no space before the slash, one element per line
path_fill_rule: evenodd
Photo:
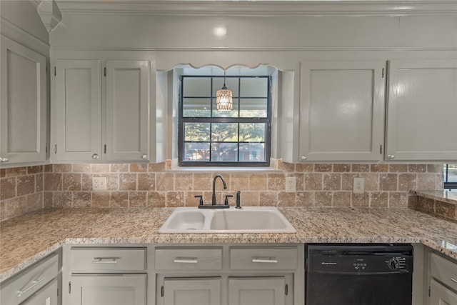
<path fill-rule="evenodd" d="M 457 14 L 457 0 L 56 0 L 64 14 L 405 16 Z"/>

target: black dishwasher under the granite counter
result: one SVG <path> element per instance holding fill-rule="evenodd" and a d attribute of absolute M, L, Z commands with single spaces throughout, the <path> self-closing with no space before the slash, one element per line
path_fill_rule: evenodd
<path fill-rule="evenodd" d="M 309 244 L 306 305 L 411 305 L 411 244 Z"/>

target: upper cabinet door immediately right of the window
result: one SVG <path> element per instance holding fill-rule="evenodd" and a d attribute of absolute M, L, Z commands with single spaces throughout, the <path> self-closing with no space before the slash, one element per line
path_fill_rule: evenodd
<path fill-rule="evenodd" d="M 384 61 L 303 63 L 299 161 L 379 161 Z"/>

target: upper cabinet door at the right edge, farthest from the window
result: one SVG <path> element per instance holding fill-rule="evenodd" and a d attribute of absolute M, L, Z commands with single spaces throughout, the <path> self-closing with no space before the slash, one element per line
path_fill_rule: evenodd
<path fill-rule="evenodd" d="M 457 60 L 389 62 L 386 158 L 457 160 Z"/>

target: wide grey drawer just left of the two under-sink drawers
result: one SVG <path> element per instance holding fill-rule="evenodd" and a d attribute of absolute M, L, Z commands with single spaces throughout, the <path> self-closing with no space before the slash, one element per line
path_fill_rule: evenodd
<path fill-rule="evenodd" d="M 71 272 L 144 271 L 146 248 L 72 248 Z"/>

